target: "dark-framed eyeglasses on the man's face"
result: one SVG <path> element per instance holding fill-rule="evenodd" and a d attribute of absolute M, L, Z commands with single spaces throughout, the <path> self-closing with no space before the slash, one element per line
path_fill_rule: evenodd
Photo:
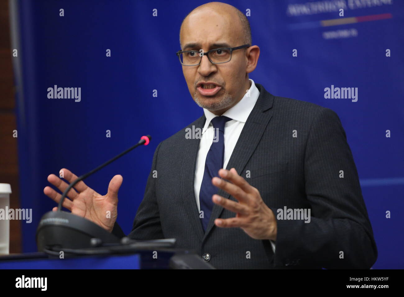
<path fill-rule="evenodd" d="M 221 47 L 214 48 L 206 53 L 199 51 L 178 51 L 176 54 L 179 57 L 179 61 L 184 66 L 199 65 L 203 56 L 207 56 L 209 61 L 213 64 L 227 63 L 231 60 L 231 53 L 240 48 L 249 47 L 250 44 L 244 44 L 236 47 Z"/>

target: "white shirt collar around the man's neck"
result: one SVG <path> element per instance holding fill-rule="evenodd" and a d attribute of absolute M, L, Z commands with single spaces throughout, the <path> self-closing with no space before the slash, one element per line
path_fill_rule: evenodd
<path fill-rule="evenodd" d="M 259 97 L 259 90 L 258 90 L 257 86 L 255 86 L 254 80 L 252 80 L 251 78 L 249 78 L 249 80 L 251 82 L 249 92 L 246 92 L 244 97 L 242 97 L 242 99 L 240 101 L 238 101 L 238 103 L 236 105 L 234 105 L 233 107 L 226 110 L 222 114 L 222 116 L 227 116 L 238 122 L 245 123 L 247 121 L 247 118 L 250 115 L 250 112 L 254 108 L 254 105 L 257 102 L 257 99 Z M 248 94 L 250 95 L 250 97 L 247 97 Z M 215 114 L 213 114 L 206 108 L 204 108 L 203 111 L 204 111 L 204 114 L 206 117 L 206 122 L 202 129 L 202 134 L 205 133 L 206 129 L 209 127 L 210 121 L 216 117 Z"/>

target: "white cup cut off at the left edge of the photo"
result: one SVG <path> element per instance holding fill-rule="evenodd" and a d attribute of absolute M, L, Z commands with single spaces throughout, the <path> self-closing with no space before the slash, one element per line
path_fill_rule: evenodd
<path fill-rule="evenodd" d="M 10 253 L 10 209 L 11 185 L 0 183 L 0 254 Z"/>

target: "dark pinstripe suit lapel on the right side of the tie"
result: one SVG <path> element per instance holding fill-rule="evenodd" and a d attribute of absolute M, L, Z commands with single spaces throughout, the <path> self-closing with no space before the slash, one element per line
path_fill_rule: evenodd
<path fill-rule="evenodd" d="M 272 117 L 271 107 L 274 103 L 274 96 L 265 91 L 261 84 L 255 85 L 260 91 L 259 97 L 250 115 L 248 116 L 246 123 L 244 124 L 243 130 L 241 131 L 240 137 L 238 138 L 236 146 L 234 147 L 233 153 L 231 154 L 230 160 L 226 167 L 227 170 L 234 167 L 239 175 L 242 174 L 244 167 L 246 166 L 252 153 L 255 151 L 255 148 L 261 140 L 265 128 Z M 192 183 L 192 185 L 194 185 L 194 183 Z M 224 198 L 229 198 L 230 196 L 230 194 L 221 189 L 217 194 L 223 196 Z M 231 197 L 231 200 L 237 201 L 233 197 Z M 221 215 L 222 211 L 222 206 L 217 204 L 213 205 L 209 224 L 204 234 L 204 240 L 212 230 L 215 219 Z"/>

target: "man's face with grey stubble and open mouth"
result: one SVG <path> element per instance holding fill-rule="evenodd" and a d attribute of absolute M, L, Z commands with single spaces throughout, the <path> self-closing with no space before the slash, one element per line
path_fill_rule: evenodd
<path fill-rule="evenodd" d="M 236 19 L 237 20 L 237 19 Z M 243 45 L 241 25 L 227 14 L 198 11 L 190 14 L 181 28 L 183 51 L 207 52 L 213 48 Z M 188 46 L 188 45 L 192 46 Z M 188 90 L 194 101 L 210 111 L 227 110 L 245 94 L 247 58 L 244 49 L 232 53 L 231 61 L 213 64 L 203 56 L 200 65 L 182 66 Z M 201 82 L 216 86 L 199 86 Z"/>

